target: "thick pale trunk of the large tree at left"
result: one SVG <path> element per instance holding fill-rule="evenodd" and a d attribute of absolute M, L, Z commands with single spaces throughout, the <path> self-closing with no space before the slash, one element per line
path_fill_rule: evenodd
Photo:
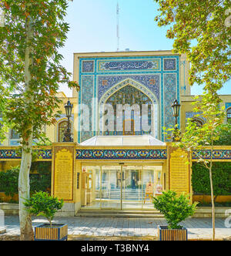
<path fill-rule="evenodd" d="M 29 45 L 32 39 L 32 19 L 30 16 L 25 21 L 26 48 L 25 48 L 25 93 L 30 90 L 32 79 L 29 67 L 32 65 L 32 46 Z M 33 103 L 33 96 L 26 99 L 26 103 Z M 29 106 L 25 106 L 27 108 Z M 27 109 L 25 109 L 25 113 Z M 33 127 L 25 127 L 22 134 L 22 161 L 18 179 L 18 200 L 19 200 L 19 221 L 22 241 L 32 241 L 34 238 L 32 219 L 28 211 L 25 210 L 24 202 L 30 198 L 29 173 L 32 165 L 32 143 Z"/>

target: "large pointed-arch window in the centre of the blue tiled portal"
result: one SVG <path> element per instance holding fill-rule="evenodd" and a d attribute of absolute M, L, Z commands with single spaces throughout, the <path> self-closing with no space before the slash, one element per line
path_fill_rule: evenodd
<path fill-rule="evenodd" d="M 152 100 L 136 87 L 129 84 L 122 87 L 112 94 L 105 104 L 112 106 L 112 120 L 110 123 L 105 120 L 105 125 L 110 126 L 105 128 L 104 135 L 152 133 Z"/>

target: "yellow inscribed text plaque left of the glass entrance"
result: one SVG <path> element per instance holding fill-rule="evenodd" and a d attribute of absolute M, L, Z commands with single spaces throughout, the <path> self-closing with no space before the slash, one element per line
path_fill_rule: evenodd
<path fill-rule="evenodd" d="M 59 200 L 73 200 L 74 148 L 55 148 L 54 196 Z"/>

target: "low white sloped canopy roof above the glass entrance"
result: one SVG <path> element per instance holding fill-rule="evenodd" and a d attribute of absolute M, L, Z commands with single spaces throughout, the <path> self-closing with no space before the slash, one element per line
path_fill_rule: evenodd
<path fill-rule="evenodd" d="M 153 136 L 94 136 L 89 140 L 81 143 L 82 146 L 166 146 L 160 140 L 155 139 Z"/>

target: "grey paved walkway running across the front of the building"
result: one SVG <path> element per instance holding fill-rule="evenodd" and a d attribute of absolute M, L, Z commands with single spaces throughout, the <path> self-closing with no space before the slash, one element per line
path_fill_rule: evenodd
<path fill-rule="evenodd" d="M 33 226 L 42 224 L 45 219 L 33 217 Z M 163 219 L 130 219 L 100 217 L 56 217 L 54 223 L 69 225 L 69 234 L 100 237 L 144 237 L 157 236 L 157 226 L 166 225 Z M 189 231 L 189 239 L 209 239 L 212 237 L 211 219 L 188 219 L 182 225 Z M 5 216 L 8 235 L 19 234 L 18 216 Z M 231 236 L 231 228 L 225 227 L 225 220 L 216 219 L 216 238 Z"/>

